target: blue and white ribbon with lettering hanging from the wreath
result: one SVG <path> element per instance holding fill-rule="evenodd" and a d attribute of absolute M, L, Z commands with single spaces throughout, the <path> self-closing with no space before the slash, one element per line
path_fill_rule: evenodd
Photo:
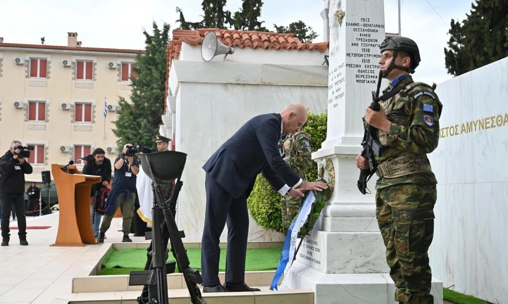
<path fill-rule="evenodd" d="M 286 279 L 288 278 L 291 265 L 293 264 L 293 256 L 295 255 L 295 251 L 298 246 L 298 232 L 307 221 L 314 201 L 315 201 L 314 193 L 309 192 L 307 198 L 303 202 L 302 207 L 300 208 L 300 211 L 298 212 L 296 220 L 294 220 L 293 223 L 291 223 L 291 226 L 288 229 L 288 234 L 286 235 L 284 245 L 282 246 L 279 264 L 277 265 L 277 270 L 275 271 L 275 275 L 273 276 L 272 285 L 270 285 L 270 290 L 274 289 L 279 290 L 277 289 L 277 282 L 279 281 L 282 274 L 284 274 L 284 278 L 280 283 L 280 290 L 284 289 L 284 285 Z"/>

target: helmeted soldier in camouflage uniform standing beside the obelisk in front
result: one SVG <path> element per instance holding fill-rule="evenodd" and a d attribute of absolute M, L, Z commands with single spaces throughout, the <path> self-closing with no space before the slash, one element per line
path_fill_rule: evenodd
<path fill-rule="evenodd" d="M 389 37 L 380 46 L 379 65 L 390 81 L 382 110 L 367 108 L 366 122 L 377 128 L 382 156 L 375 157 L 376 217 L 386 245 L 386 258 L 399 303 L 434 303 L 427 251 L 434 234 L 436 177 L 427 154 L 439 139 L 442 104 L 433 87 L 413 82 L 409 73 L 420 63 L 416 43 Z M 357 167 L 367 169 L 358 155 Z"/>

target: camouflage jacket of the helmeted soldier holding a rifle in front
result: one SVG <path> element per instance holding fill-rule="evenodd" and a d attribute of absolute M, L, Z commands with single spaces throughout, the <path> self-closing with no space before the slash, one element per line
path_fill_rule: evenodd
<path fill-rule="evenodd" d="M 404 153 L 426 159 L 426 154 L 437 147 L 439 140 L 442 104 L 434 90 L 423 83 L 415 83 L 409 75 L 395 84 L 394 89 L 400 86 L 404 89 L 380 103 L 392 125 L 389 133 L 377 130 L 383 145 L 382 156 L 376 157 L 378 165 Z M 388 89 L 383 91 L 386 92 Z M 435 184 L 437 180 L 432 171 L 395 178 L 381 177 L 376 189 L 399 183 Z"/>

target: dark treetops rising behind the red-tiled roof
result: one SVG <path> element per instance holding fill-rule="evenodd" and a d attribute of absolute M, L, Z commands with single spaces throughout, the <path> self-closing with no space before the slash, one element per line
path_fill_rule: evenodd
<path fill-rule="evenodd" d="M 225 10 L 227 0 L 203 0 L 201 7 L 203 9 L 203 20 L 191 22 L 185 19 L 183 11 L 176 8 L 179 14 L 178 22 L 180 29 L 197 29 L 197 28 L 234 28 L 237 30 L 257 30 L 270 31 L 263 26 L 264 21 L 259 21 L 261 17 L 261 9 L 263 7 L 262 0 L 243 0 L 242 7 L 232 14 Z M 273 31 L 279 33 L 294 33 L 301 42 L 312 42 L 317 37 L 317 33 L 312 27 L 307 26 L 305 22 L 290 23 L 288 26 L 273 25 Z"/>

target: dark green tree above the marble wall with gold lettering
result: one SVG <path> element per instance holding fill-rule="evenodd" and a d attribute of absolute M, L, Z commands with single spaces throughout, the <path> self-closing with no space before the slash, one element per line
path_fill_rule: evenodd
<path fill-rule="evenodd" d="M 462 23 L 452 19 L 444 61 L 458 76 L 508 56 L 508 2 L 477 0 Z"/>

